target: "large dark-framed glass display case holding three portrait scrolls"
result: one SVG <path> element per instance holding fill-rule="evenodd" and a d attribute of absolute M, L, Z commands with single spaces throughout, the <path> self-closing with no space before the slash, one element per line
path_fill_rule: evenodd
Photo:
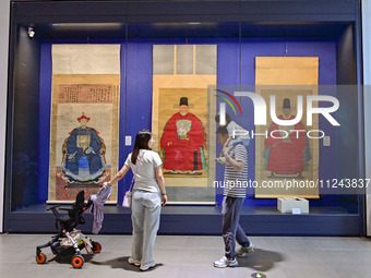
<path fill-rule="evenodd" d="M 363 179 L 358 1 L 336 1 L 336 5 L 334 1 L 12 1 L 11 12 L 7 231 L 53 231 L 48 204 L 71 202 L 81 189 L 96 193 L 105 179 L 122 167 L 137 131 L 148 129 L 156 141 L 154 150 L 164 160 L 170 201 L 163 209 L 160 232 L 218 234 L 225 166 L 216 161 L 222 145 L 215 117 L 224 107 L 234 123 L 249 134 L 241 216 L 249 233 L 363 234 L 361 183 L 368 181 Z M 60 65 L 56 65 L 60 58 L 56 46 L 64 47 Z M 71 65 L 73 59 L 67 59 L 74 57 L 69 52 L 74 46 L 83 47 L 79 51 L 86 57 L 92 50 L 82 50 L 87 49 L 84 47 L 116 46 L 118 50 L 107 71 L 98 62 L 83 64 L 79 72 L 79 67 Z M 84 59 L 98 59 L 94 51 Z M 65 70 L 68 67 L 71 69 Z M 117 68 L 115 73 L 112 68 Z M 270 82 L 266 69 L 284 69 L 278 77 L 282 83 Z M 69 75 L 61 78 L 61 74 Z M 85 78 L 83 74 L 106 75 Z M 106 82 L 113 74 L 116 83 Z M 112 85 L 112 102 L 95 99 L 89 106 L 84 100 L 74 108 L 79 101 L 65 105 L 56 95 L 63 86 L 65 92 L 86 87 L 92 92 L 111 84 L 118 93 L 115 95 Z M 266 104 L 264 113 L 254 97 L 242 93 L 259 95 L 256 99 Z M 275 106 L 271 96 L 276 96 Z M 298 96 L 303 97 L 303 105 Z M 194 120 L 183 126 L 189 134 L 180 134 L 177 128 L 172 143 L 179 141 L 180 147 L 171 154 L 165 137 L 184 98 Z M 310 99 L 316 100 L 313 108 L 324 109 L 323 114 L 313 117 L 312 125 L 307 118 Z M 275 110 L 280 119 L 285 108 L 291 110 L 290 117 L 303 108 L 301 121 L 288 126 L 288 132 L 271 117 Z M 325 108 L 334 108 L 331 116 L 339 125 L 328 121 Z M 105 118 L 107 111 L 111 118 Z M 64 123 L 69 113 L 74 120 Z M 100 143 L 97 157 L 108 161 L 105 173 L 87 183 L 68 176 L 63 160 L 68 138 L 82 117 L 89 118 L 92 129 L 105 143 L 106 156 Z M 265 125 L 256 124 L 260 117 L 266 117 Z M 192 137 L 190 130 L 193 126 L 195 132 L 199 122 L 199 133 Z M 279 130 L 276 134 L 272 133 L 274 124 Z M 292 133 L 292 129 L 304 131 Z M 268 138 L 276 141 L 270 145 Z M 274 155 L 278 141 L 285 146 Z M 288 147 L 292 141 L 301 144 L 299 150 Z M 184 142 L 193 144 L 193 153 L 185 154 Z M 177 154 L 182 159 L 177 160 Z M 291 160 L 299 170 L 287 170 Z M 117 205 L 131 179 L 129 173 L 119 182 L 105 207 L 104 233 L 131 231 L 130 210 Z M 297 190 L 292 191 L 295 181 Z M 264 182 L 279 184 L 284 191 L 262 190 Z M 351 186 L 355 183 L 357 186 Z M 309 200 L 309 214 L 278 211 L 277 198 L 287 196 Z"/>

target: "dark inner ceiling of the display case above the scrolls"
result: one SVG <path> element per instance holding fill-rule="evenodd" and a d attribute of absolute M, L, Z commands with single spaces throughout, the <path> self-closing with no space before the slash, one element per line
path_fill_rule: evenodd
<path fill-rule="evenodd" d="M 59 23 L 29 24 L 40 39 L 337 37 L 350 23 Z M 26 26 L 27 27 L 27 26 Z"/>

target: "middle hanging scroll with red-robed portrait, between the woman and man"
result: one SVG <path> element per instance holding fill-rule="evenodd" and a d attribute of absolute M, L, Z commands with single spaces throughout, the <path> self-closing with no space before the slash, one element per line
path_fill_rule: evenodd
<path fill-rule="evenodd" d="M 215 202 L 215 45 L 155 45 L 153 122 L 169 200 Z M 212 111 L 213 110 L 213 111 Z M 210 186 L 208 186 L 210 185 Z"/>

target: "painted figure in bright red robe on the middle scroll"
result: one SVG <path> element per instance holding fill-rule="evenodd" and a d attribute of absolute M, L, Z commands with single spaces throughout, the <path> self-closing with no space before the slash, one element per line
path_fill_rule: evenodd
<path fill-rule="evenodd" d="M 202 122 L 188 109 L 188 98 L 181 97 L 179 112 L 167 121 L 160 138 L 164 169 L 170 170 L 170 172 L 193 172 L 206 168 L 203 153 L 205 136 Z"/>

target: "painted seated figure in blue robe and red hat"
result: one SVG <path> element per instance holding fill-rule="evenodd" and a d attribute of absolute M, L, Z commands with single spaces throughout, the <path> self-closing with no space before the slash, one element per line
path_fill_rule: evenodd
<path fill-rule="evenodd" d="M 65 138 L 63 153 L 63 172 L 73 182 L 97 182 L 105 172 L 105 144 L 98 132 L 87 126 L 84 113 L 77 118 L 79 128 L 72 130 Z"/>

